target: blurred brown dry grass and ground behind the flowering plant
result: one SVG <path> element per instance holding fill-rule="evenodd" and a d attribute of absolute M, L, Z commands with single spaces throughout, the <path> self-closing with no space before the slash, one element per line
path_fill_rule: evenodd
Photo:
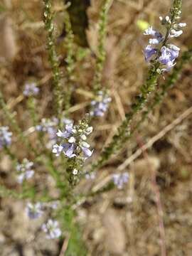
<path fill-rule="evenodd" d="M 102 1 L 71 0 L 69 14 L 75 33 L 75 92 L 71 118 L 76 121 L 86 112 L 90 101 L 91 81 L 94 75 L 97 49 L 97 21 Z M 145 79 L 147 64 L 142 50 L 148 38 L 143 27 L 149 23 L 161 30 L 159 16 L 169 13 L 171 0 L 114 0 L 109 13 L 107 60 L 103 71 L 103 86 L 110 88 L 112 104 L 106 118 L 93 124 L 92 144 L 95 156 L 110 142 L 114 132 L 129 110 L 129 105 Z M 55 38 L 60 58 L 60 70 L 65 74 L 65 27 L 63 3 L 53 1 L 55 11 Z M 175 43 L 181 50 L 192 46 L 192 1 L 183 1 L 181 22 L 186 22 L 183 35 Z M 23 85 L 37 80 L 41 86 L 38 97 L 39 117 L 53 115 L 53 93 L 50 65 L 46 52 L 46 31 L 43 25 L 43 1 L 0 1 L 0 87 L 12 112 L 24 131 L 31 127 L 23 99 Z M 186 65 L 181 78 L 169 90 L 161 106 L 149 115 L 141 129 L 124 149 L 102 168 L 94 181 L 83 181 L 78 189 L 104 186 L 110 174 L 115 173 L 134 152 L 164 127 L 179 117 L 192 102 L 192 68 Z M 165 78 L 159 81 L 159 85 Z M 77 220 L 82 228 L 82 238 L 88 255 L 161 255 L 159 235 L 161 220 L 156 207 L 156 183 L 161 193 L 167 255 L 192 255 L 192 117 L 172 127 L 159 136 L 144 156 L 130 161 L 124 171 L 129 171 L 129 183 L 122 191 L 114 189 L 87 199 L 77 209 Z M 8 125 L 1 114 L 0 124 Z M 30 131 L 28 131 L 30 134 Z M 30 134 L 31 142 L 35 134 Z M 15 141 L 14 151 L 19 158 L 26 152 Z M 9 157 L 0 151 L 0 179 L 9 188 L 17 188 L 14 170 Z M 58 193 L 46 169 L 39 170 L 36 186 L 47 186 L 53 196 Z M 56 256 L 60 244 L 45 240 L 38 233 L 39 224 L 26 218 L 25 202 L 0 198 L 0 254 L 1 256 Z M 160 218 L 161 219 L 161 218 Z M 42 220 L 39 220 L 40 222 Z M 80 255 L 79 255 L 80 256 Z"/>

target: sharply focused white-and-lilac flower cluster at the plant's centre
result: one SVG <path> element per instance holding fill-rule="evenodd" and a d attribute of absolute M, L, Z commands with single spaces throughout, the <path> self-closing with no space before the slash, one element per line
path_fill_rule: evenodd
<path fill-rule="evenodd" d="M 90 144 L 86 142 L 87 135 L 92 133 L 92 127 L 85 124 L 73 125 L 73 123 L 65 125 L 65 131 L 58 130 L 57 136 L 62 139 L 60 145 L 53 145 L 53 153 L 55 156 L 59 156 L 63 153 L 69 159 L 78 157 L 79 159 L 87 159 L 92 156 L 92 150 L 90 150 Z"/>

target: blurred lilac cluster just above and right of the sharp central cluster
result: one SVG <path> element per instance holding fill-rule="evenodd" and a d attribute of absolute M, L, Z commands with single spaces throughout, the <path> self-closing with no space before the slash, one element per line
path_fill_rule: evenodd
<path fill-rule="evenodd" d="M 97 92 L 95 100 L 91 101 L 90 115 L 94 117 L 103 117 L 109 107 L 112 98 L 102 91 Z"/>

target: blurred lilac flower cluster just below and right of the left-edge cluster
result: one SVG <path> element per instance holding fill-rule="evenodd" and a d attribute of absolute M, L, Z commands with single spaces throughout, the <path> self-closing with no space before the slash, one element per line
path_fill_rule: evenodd
<path fill-rule="evenodd" d="M 24 180 L 33 177 L 34 171 L 31 169 L 32 166 L 33 162 L 28 161 L 28 159 L 23 159 L 21 164 L 16 165 L 18 183 L 23 183 Z"/>

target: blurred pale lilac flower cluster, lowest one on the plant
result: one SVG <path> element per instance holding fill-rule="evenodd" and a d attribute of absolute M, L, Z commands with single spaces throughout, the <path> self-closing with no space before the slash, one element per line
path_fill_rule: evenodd
<path fill-rule="evenodd" d="M 61 230 L 57 220 L 49 219 L 47 223 L 42 225 L 42 230 L 47 234 L 46 238 L 55 239 L 61 235 Z"/>

